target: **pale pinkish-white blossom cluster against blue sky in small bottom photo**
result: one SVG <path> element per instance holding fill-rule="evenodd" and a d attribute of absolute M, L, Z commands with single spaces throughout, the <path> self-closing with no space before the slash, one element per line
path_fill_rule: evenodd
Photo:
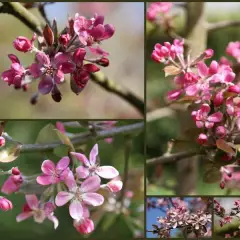
<path fill-rule="evenodd" d="M 192 211 L 188 204 L 179 198 L 172 199 L 171 207 L 167 199 L 159 199 L 159 201 L 157 204 L 162 206 L 160 209 L 165 211 L 166 215 L 158 217 L 157 224 L 152 225 L 153 234 L 157 234 L 160 238 L 169 238 L 171 230 L 176 228 L 185 229 L 187 234 L 195 234 L 197 237 L 210 234 L 209 224 L 212 216 L 206 210 Z"/>

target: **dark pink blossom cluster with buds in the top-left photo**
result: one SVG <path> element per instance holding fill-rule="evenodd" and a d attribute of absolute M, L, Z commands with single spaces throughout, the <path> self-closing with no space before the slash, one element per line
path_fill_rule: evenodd
<path fill-rule="evenodd" d="M 51 93 L 53 100 L 60 102 L 62 94 L 58 86 L 65 81 L 67 74 L 71 77 L 71 90 L 79 94 L 88 83 L 90 74 L 100 70 L 98 66 L 109 65 L 109 53 L 99 45 L 114 32 L 114 26 L 104 24 L 104 17 L 97 14 L 91 19 L 76 14 L 74 19 L 69 18 L 61 33 L 58 33 L 54 20 L 52 26 L 46 25 L 42 36 L 37 37 L 34 33 L 32 39 L 19 36 L 14 40 L 14 48 L 22 53 L 34 53 L 35 61 L 24 67 L 17 56 L 9 54 L 10 69 L 1 77 L 8 85 L 24 90 L 29 83 L 39 79 L 38 92 L 31 102 L 36 103 L 39 93 Z"/>

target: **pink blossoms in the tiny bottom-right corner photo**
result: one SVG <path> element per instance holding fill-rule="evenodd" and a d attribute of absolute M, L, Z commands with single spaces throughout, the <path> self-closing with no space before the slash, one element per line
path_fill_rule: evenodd
<path fill-rule="evenodd" d="M 232 223 L 234 219 L 239 219 L 238 214 L 240 213 L 240 200 L 234 200 L 234 206 L 229 212 L 220 204 L 217 199 L 214 199 L 214 214 L 220 217 L 219 226 L 223 227 L 225 224 Z M 225 238 L 239 237 L 240 231 L 232 231 L 231 233 L 226 233 Z"/>

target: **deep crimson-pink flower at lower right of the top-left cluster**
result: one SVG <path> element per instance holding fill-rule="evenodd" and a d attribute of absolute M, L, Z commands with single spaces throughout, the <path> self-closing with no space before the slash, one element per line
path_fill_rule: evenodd
<path fill-rule="evenodd" d="M 73 54 L 73 62 L 76 64 L 76 69 L 72 73 L 73 80 L 82 90 L 88 83 L 91 73 L 98 72 L 100 69 L 94 64 L 84 64 L 86 50 L 84 48 L 77 49 Z"/>

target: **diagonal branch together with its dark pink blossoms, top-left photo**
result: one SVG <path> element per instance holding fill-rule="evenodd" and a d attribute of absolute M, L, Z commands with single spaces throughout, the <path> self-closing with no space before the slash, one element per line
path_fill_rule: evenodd
<path fill-rule="evenodd" d="M 39 10 L 40 10 L 42 16 L 47 20 L 45 12 L 44 12 L 44 5 L 40 6 Z M 53 43 L 52 43 L 53 31 L 52 31 L 52 29 L 49 28 L 49 26 L 51 26 L 51 25 L 48 24 L 46 27 L 44 27 L 44 24 L 41 23 L 41 21 L 38 20 L 31 12 L 29 12 L 22 4 L 16 3 L 16 2 L 14 2 L 14 3 L 3 3 L 3 5 L 0 8 L 0 13 L 8 13 L 8 14 L 11 14 L 11 15 L 17 17 L 20 21 L 22 21 L 31 30 L 36 32 L 39 36 L 44 35 L 45 41 L 47 42 L 48 46 L 52 46 L 53 45 Z M 98 16 L 97 22 L 101 22 L 102 21 L 102 18 L 101 18 L 101 20 L 100 20 L 100 18 L 101 18 L 101 16 Z M 79 19 L 77 19 L 77 20 L 75 19 L 75 21 L 79 21 Z M 86 20 L 86 21 L 88 21 L 88 20 Z M 71 22 L 69 24 L 70 24 L 70 31 L 71 31 L 71 28 L 73 28 L 73 25 L 71 25 Z M 89 24 L 89 22 L 88 22 L 88 24 Z M 99 24 L 99 25 L 103 26 L 102 24 Z M 107 29 L 107 30 L 105 29 L 106 32 L 105 32 L 105 35 L 104 35 L 104 39 L 107 39 L 107 38 L 111 37 L 111 35 L 114 33 L 114 28 L 111 25 L 109 25 L 109 24 L 104 25 L 104 26 Z M 96 27 L 98 27 L 98 26 L 94 26 L 94 28 L 96 28 Z M 42 32 L 42 29 L 44 29 L 43 32 Z M 74 29 L 76 31 L 76 27 Z M 101 28 L 101 30 L 102 30 L 102 28 Z M 80 29 L 79 31 L 82 31 L 82 30 Z M 94 32 L 93 29 L 91 29 L 91 31 L 93 32 L 93 34 L 97 33 L 97 31 Z M 68 39 L 68 38 L 70 38 L 69 33 L 62 34 L 60 36 L 60 38 L 59 38 L 60 45 L 55 49 L 55 51 L 56 51 L 56 55 L 55 56 L 57 56 L 57 55 L 58 55 L 58 57 L 60 56 L 59 52 L 58 52 L 59 48 L 60 49 L 65 49 L 66 48 L 66 50 L 68 50 L 68 51 L 70 51 L 68 49 L 69 47 L 70 48 L 72 47 L 71 51 L 73 51 L 73 47 L 75 47 L 74 49 L 76 49 L 76 46 L 74 46 L 74 42 L 76 40 L 75 37 L 76 37 L 75 35 L 72 35 L 72 39 L 69 41 L 69 39 Z M 100 39 L 100 38 L 97 39 L 97 37 L 96 37 L 96 41 L 97 42 L 100 42 L 101 40 L 104 40 L 104 39 Z M 32 51 L 32 50 L 38 52 L 39 50 L 35 49 L 32 46 L 33 41 L 35 41 L 35 40 L 36 40 L 36 36 L 34 36 L 31 41 L 26 39 L 26 38 L 24 38 L 24 39 L 17 39 L 17 41 L 19 41 L 19 43 L 17 42 L 16 44 L 18 44 L 18 45 L 20 43 L 22 44 L 21 41 L 25 41 L 26 43 L 23 46 L 24 49 L 19 49 L 20 45 L 16 46 L 16 48 L 17 48 L 17 50 L 24 51 L 24 52 Z M 56 41 L 56 39 L 55 39 L 55 41 Z M 65 46 L 64 44 L 66 43 L 66 41 L 68 41 L 68 45 Z M 82 39 L 82 43 L 84 41 L 85 40 Z M 28 47 L 28 49 L 26 49 L 27 47 Z M 98 85 L 103 87 L 106 91 L 111 92 L 111 93 L 116 94 L 117 96 L 121 97 L 122 99 L 124 99 L 125 101 L 130 103 L 132 106 L 134 106 L 143 115 L 144 114 L 144 100 L 142 98 L 136 96 L 131 91 L 129 91 L 127 89 L 123 89 L 121 86 L 118 86 L 114 82 L 110 81 L 102 73 L 99 72 L 98 74 L 94 74 L 95 72 L 99 71 L 99 68 L 97 66 L 95 66 L 94 64 L 84 64 L 83 65 L 83 62 L 80 61 L 80 60 L 85 57 L 86 53 L 84 53 L 84 51 L 81 50 L 83 48 L 83 46 L 81 46 L 81 44 L 80 44 L 80 46 L 78 45 L 78 47 L 80 47 L 80 48 L 78 49 L 78 51 L 75 52 L 75 55 L 74 55 L 75 56 L 75 60 L 78 59 L 78 63 L 77 64 L 76 64 L 76 61 L 75 61 L 76 67 L 74 67 L 73 64 L 70 65 L 69 60 L 67 60 L 67 59 L 64 60 L 63 58 L 62 58 L 62 61 L 64 61 L 64 62 L 62 62 L 61 64 L 62 64 L 62 66 L 64 66 L 64 68 L 61 67 L 61 66 L 58 66 L 58 65 L 56 66 L 56 62 L 57 61 L 55 61 L 56 59 L 54 58 L 55 60 L 51 61 L 51 65 L 48 64 L 49 68 L 45 69 L 47 74 L 52 74 L 52 75 L 55 74 L 54 75 L 54 77 L 55 77 L 54 81 L 56 81 L 56 78 L 59 78 L 58 82 L 61 83 L 62 79 L 60 79 L 60 74 L 64 75 L 64 74 L 67 74 L 67 73 L 71 73 L 73 75 L 74 81 L 76 82 L 76 83 L 74 83 L 74 81 L 71 81 L 71 88 L 72 88 L 72 91 L 75 92 L 76 94 L 80 93 L 82 88 L 86 85 L 86 83 L 88 81 L 88 78 L 90 76 L 90 78 L 95 83 L 97 83 Z M 50 50 L 52 51 L 52 49 L 50 49 Z M 94 49 L 94 51 L 100 51 L 100 50 L 99 50 L 99 48 L 96 48 L 96 49 Z M 100 54 L 100 53 L 98 52 L 98 54 Z M 107 54 L 107 53 L 105 51 L 101 50 L 101 54 L 103 54 L 103 56 L 105 56 L 105 54 Z M 40 54 L 37 54 L 37 55 L 38 55 L 38 60 L 40 62 L 43 61 L 43 58 L 45 59 L 45 61 L 48 60 L 46 58 L 46 54 L 43 54 L 42 52 L 40 52 Z M 15 57 L 15 59 L 13 59 L 13 57 L 11 55 L 10 56 L 10 60 L 12 61 L 12 63 L 15 63 L 16 61 L 19 63 L 18 71 L 21 71 L 21 77 L 22 78 L 24 78 L 25 75 L 30 75 L 30 76 L 32 75 L 32 76 L 34 76 L 34 78 L 39 77 L 38 75 L 39 75 L 39 70 L 40 69 L 37 69 L 36 65 L 34 65 L 34 66 L 32 65 L 31 69 L 24 69 L 20 65 L 20 62 L 19 62 L 19 60 L 16 57 Z M 68 62 L 66 62 L 66 60 Z M 97 59 L 97 60 L 94 60 L 94 61 L 91 60 L 90 63 L 95 63 L 95 64 L 98 64 L 100 66 L 106 67 L 109 64 L 109 61 L 108 61 L 107 58 L 102 57 L 101 59 Z M 66 68 L 66 66 L 67 66 L 67 68 Z M 58 70 L 57 73 L 50 72 L 50 70 L 53 71 L 54 69 L 56 69 L 56 67 L 58 68 L 57 69 Z M 76 69 L 74 70 L 73 67 L 76 68 Z M 78 71 L 77 67 L 81 67 L 81 68 L 83 67 L 85 70 L 82 69 L 81 72 L 77 72 Z M 61 73 L 61 70 L 60 70 L 61 68 L 63 69 L 64 74 Z M 73 72 L 73 71 L 75 71 L 75 72 Z M 8 79 L 9 76 L 7 75 L 7 73 L 8 72 L 5 72 L 4 75 L 3 75 L 4 81 L 8 82 L 9 84 L 14 84 L 14 85 L 18 84 L 19 85 L 19 82 L 18 83 L 10 82 L 11 79 Z M 22 80 L 22 79 L 20 79 L 20 80 Z M 51 79 L 49 79 L 48 76 L 45 77 L 44 81 L 40 85 L 40 90 L 39 91 L 42 94 L 47 94 L 47 93 L 49 93 L 49 90 L 50 90 L 51 93 L 52 93 L 53 100 L 59 102 L 59 101 L 61 101 L 61 93 L 57 89 L 56 84 L 55 84 L 55 87 L 52 87 L 52 82 L 50 82 L 50 80 Z M 23 84 L 25 84 L 25 83 L 22 83 L 22 85 Z M 77 84 L 77 86 L 76 86 L 76 84 Z M 16 87 L 19 88 L 18 85 L 16 85 Z M 50 87 L 51 87 L 51 89 L 50 89 Z M 37 97 L 38 97 L 38 95 L 34 95 L 33 99 L 31 100 L 31 102 L 33 104 L 36 103 Z"/>

